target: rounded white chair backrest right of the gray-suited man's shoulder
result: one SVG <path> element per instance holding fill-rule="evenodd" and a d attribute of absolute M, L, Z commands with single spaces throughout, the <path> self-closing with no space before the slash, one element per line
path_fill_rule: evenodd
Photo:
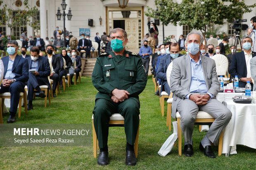
<path fill-rule="evenodd" d="M 228 58 L 222 54 L 216 54 L 212 59 L 216 64 L 217 75 L 226 75 L 228 72 Z"/>

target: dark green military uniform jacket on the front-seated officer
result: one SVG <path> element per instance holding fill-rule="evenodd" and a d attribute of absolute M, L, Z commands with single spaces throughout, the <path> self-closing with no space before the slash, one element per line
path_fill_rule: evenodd
<path fill-rule="evenodd" d="M 128 97 L 139 102 L 139 94 L 147 84 L 147 77 L 142 59 L 135 53 L 124 51 L 123 56 L 114 52 L 101 54 L 92 72 L 92 84 L 99 91 L 98 98 L 111 100 L 111 91 L 115 88 L 126 90 Z"/>

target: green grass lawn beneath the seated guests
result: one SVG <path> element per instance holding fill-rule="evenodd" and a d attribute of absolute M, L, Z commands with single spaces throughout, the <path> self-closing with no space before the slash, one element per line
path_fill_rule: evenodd
<path fill-rule="evenodd" d="M 92 110 L 97 90 L 92 85 L 90 77 L 81 77 L 82 83 L 61 89 L 52 105 L 44 107 L 44 100 L 36 98 L 33 110 L 21 117 L 16 123 L 91 123 Z M 256 149 L 237 145 L 237 155 L 230 157 L 217 156 L 207 158 L 199 150 L 200 140 L 206 132 L 200 133 L 195 126 L 193 133 L 194 156 L 188 158 L 178 156 L 178 145 L 171 153 L 162 157 L 157 154 L 165 140 L 172 134 L 166 126 L 165 117 L 161 116 L 159 97 L 154 95 L 154 84 L 149 77 L 145 90 L 140 94 L 140 136 L 137 165 L 125 165 L 126 137 L 123 127 L 109 128 L 109 159 L 110 164 L 104 167 L 97 165 L 93 157 L 92 142 L 87 147 L 0 147 L 0 169 L 256 169 Z M 3 115 L 6 122 L 8 114 Z M 255 134 L 254 134 L 255 135 Z M 184 144 L 184 138 L 183 138 Z M 213 147 L 215 154 L 218 148 Z M 99 151 L 98 151 L 99 152 Z"/>

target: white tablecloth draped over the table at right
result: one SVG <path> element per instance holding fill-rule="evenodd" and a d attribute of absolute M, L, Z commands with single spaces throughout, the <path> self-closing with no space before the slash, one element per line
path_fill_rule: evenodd
<path fill-rule="evenodd" d="M 232 100 L 223 101 L 232 112 L 232 118 L 224 129 L 222 153 L 237 154 L 236 145 L 242 144 L 256 149 L 256 104 L 239 104 Z"/>

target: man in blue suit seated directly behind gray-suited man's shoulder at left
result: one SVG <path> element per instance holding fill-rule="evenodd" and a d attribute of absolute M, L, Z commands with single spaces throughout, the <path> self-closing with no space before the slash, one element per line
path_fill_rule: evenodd
<path fill-rule="evenodd" d="M 166 55 L 160 59 L 160 63 L 159 63 L 159 66 L 158 66 L 158 69 L 156 72 L 156 77 L 161 79 L 160 96 L 161 96 L 162 91 L 165 91 L 166 93 L 168 93 L 168 95 L 170 95 L 171 90 L 170 90 L 170 86 L 167 83 L 166 71 L 167 71 L 169 64 L 175 58 L 183 56 L 182 54 L 180 54 L 180 47 L 179 47 L 178 43 L 171 43 L 169 46 L 170 46 L 169 47 L 170 55 Z"/>

